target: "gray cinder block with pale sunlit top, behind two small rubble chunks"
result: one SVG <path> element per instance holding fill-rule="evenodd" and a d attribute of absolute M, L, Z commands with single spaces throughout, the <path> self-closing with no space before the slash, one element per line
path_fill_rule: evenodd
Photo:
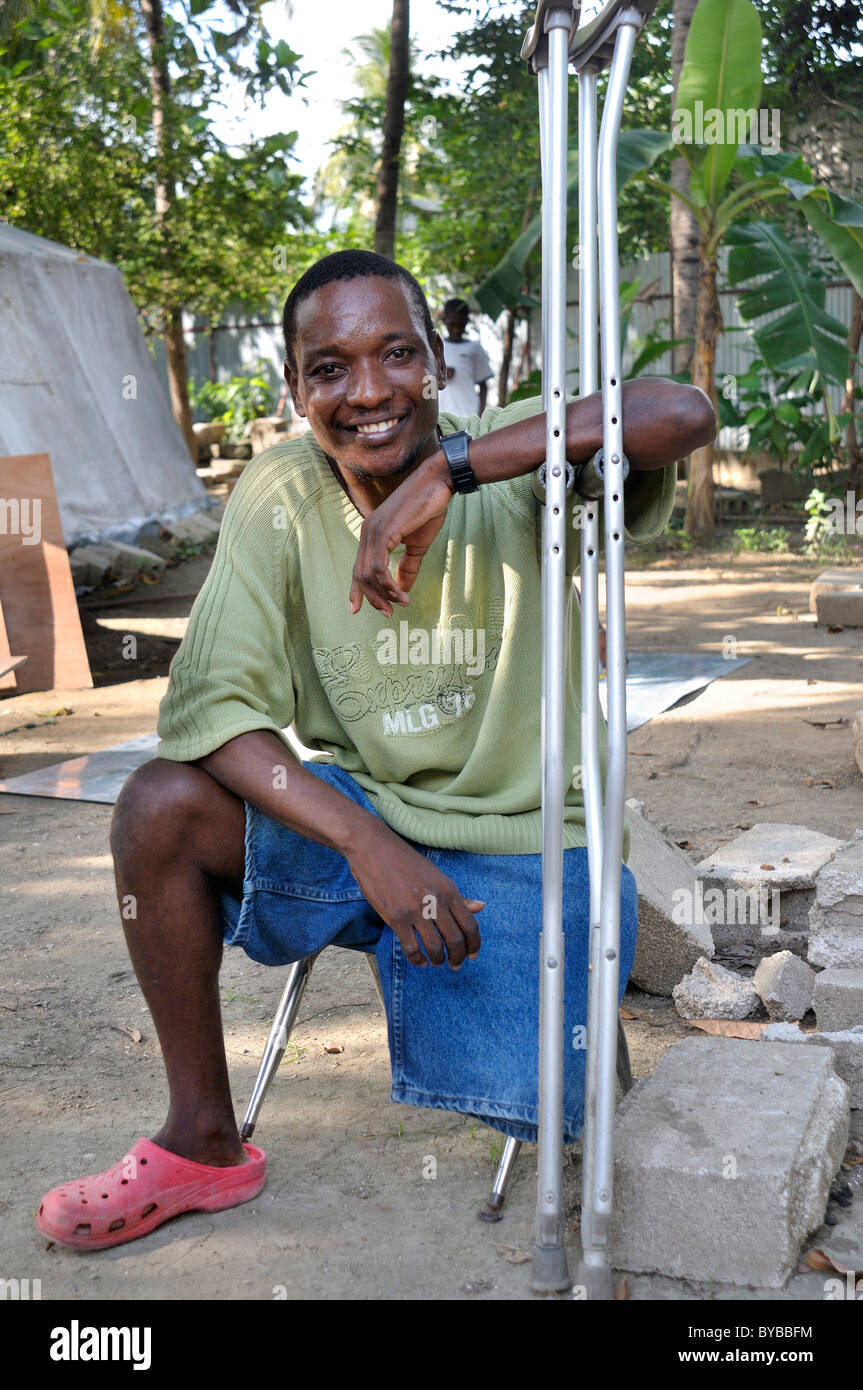
<path fill-rule="evenodd" d="M 716 945 L 805 956 L 816 877 L 841 848 L 806 826 L 763 823 L 703 859 L 695 872 Z"/>

